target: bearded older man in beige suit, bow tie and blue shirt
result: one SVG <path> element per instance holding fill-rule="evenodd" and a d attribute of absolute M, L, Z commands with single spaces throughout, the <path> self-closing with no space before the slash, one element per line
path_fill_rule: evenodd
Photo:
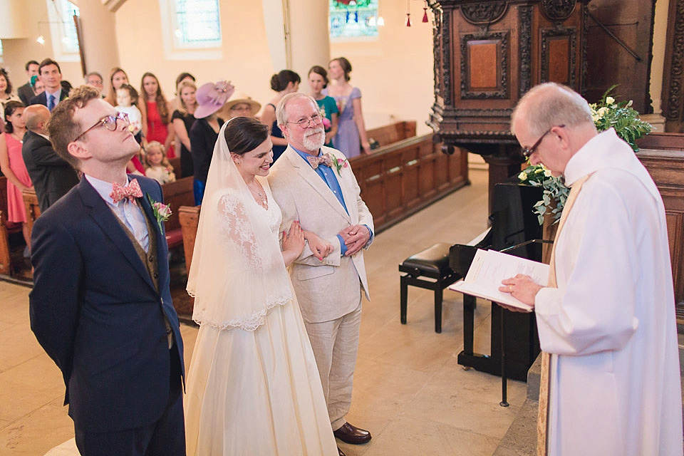
<path fill-rule="evenodd" d="M 303 229 L 328 242 L 323 252 L 306 245 L 291 268 L 292 283 L 335 435 L 343 442 L 365 443 L 371 433 L 347 423 L 345 415 L 351 405 L 362 289 L 368 299 L 362 249 L 373 239 L 373 217 L 342 152 L 323 146 L 316 101 L 303 93 L 286 95 L 276 118 L 289 142 L 269 175 L 283 227 L 299 220 Z"/>

